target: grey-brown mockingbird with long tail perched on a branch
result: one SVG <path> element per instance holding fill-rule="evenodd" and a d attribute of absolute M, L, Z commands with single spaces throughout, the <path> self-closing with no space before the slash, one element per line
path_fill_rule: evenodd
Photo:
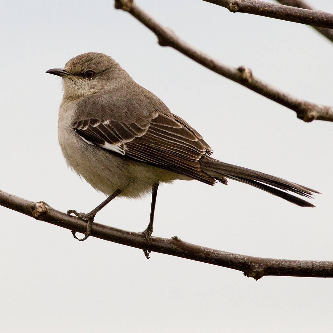
<path fill-rule="evenodd" d="M 86 239 L 96 213 L 116 196 L 139 198 L 152 191 L 150 220 L 144 234 L 153 232 L 160 182 L 199 180 L 208 185 L 234 179 L 303 207 L 311 203 L 311 188 L 262 172 L 213 159 L 209 145 L 153 93 L 133 81 L 111 57 L 84 53 L 65 68 L 46 73 L 63 79 L 58 140 L 67 164 L 94 188 L 109 197 L 90 213 L 69 210 L 88 220 Z"/>

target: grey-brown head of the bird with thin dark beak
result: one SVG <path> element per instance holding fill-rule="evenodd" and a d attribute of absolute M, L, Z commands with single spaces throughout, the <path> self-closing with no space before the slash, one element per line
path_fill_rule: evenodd
<path fill-rule="evenodd" d="M 49 69 L 46 73 L 63 79 L 64 98 L 77 99 L 112 88 L 129 75 L 111 57 L 89 52 L 69 60 L 65 68 Z"/>

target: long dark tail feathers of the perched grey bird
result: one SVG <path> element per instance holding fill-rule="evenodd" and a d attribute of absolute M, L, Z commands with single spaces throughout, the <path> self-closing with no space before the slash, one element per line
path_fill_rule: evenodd
<path fill-rule="evenodd" d="M 200 165 L 202 171 L 208 173 L 211 177 L 220 180 L 225 184 L 227 183 L 227 180 L 224 177 L 234 179 L 242 183 L 246 183 L 254 187 L 260 188 L 268 193 L 279 196 L 280 198 L 283 198 L 302 207 L 315 206 L 310 202 L 307 202 L 297 196 L 294 196 L 284 191 L 290 191 L 301 196 L 305 196 L 307 198 L 312 198 L 312 195 L 314 193 L 320 193 L 309 187 L 295 184 L 291 181 L 274 177 L 259 171 L 254 171 L 241 166 L 227 164 L 215 160 L 209 156 L 203 156 L 200 159 Z M 283 191 L 278 188 L 282 189 Z"/>

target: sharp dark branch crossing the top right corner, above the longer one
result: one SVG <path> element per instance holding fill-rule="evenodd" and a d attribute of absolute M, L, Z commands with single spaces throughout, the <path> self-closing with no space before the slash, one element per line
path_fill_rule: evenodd
<path fill-rule="evenodd" d="M 203 0 L 225 7 L 233 13 L 247 13 L 271 17 L 284 21 L 307 24 L 322 28 L 333 28 L 333 14 L 313 10 L 291 7 L 292 5 L 277 5 L 259 0 Z M 281 3 L 287 1 L 279 1 Z"/>

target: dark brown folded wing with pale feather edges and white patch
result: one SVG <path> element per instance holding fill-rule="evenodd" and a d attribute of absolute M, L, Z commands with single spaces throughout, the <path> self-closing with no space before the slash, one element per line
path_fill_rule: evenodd
<path fill-rule="evenodd" d="M 211 148 L 181 118 L 155 112 L 134 122 L 112 119 L 81 119 L 73 129 L 87 143 L 120 154 L 124 158 L 148 163 L 184 174 L 208 184 L 215 180 L 201 170 L 199 160 Z"/>

